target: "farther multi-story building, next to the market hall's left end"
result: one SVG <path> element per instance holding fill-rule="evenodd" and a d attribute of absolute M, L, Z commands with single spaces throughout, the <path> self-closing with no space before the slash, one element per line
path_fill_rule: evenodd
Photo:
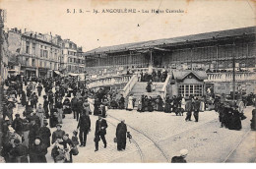
<path fill-rule="evenodd" d="M 78 47 L 70 39 L 64 39 L 62 43 L 63 60 L 61 61 L 63 69 L 70 73 L 84 73 L 85 60 L 82 53 L 82 47 Z"/>

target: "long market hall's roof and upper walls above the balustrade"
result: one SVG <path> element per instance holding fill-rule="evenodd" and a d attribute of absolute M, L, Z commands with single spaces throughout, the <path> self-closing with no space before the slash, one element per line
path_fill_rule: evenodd
<path fill-rule="evenodd" d="M 85 53 L 86 68 L 154 67 L 172 69 L 255 68 L 255 27 L 235 28 L 159 40 L 99 47 Z"/>

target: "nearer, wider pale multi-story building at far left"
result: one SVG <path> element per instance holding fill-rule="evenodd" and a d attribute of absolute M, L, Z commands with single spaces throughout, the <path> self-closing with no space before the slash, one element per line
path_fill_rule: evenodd
<path fill-rule="evenodd" d="M 21 73 L 27 76 L 51 77 L 58 71 L 61 60 L 60 36 L 32 31 L 9 31 L 9 49 L 18 52 Z"/>

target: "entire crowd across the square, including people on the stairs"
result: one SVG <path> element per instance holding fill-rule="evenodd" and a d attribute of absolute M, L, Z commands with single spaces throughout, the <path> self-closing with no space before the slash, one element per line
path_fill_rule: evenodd
<path fill-rule="evenodd" d="M 160 77 L 162 76 L 163 74 Z M 145 75 L 142 77 L 144 79 Z M 150 78 L 150 82 L 161 80 L 158 76 Z M 39 101 L 41 97 L 43 102 Z M 224 97 L 214 96 L 213 104 L 219 112 L 221 127 L 241 130 L 241 120 L 246 118 L 243 109 L 246 105 L 255 105 L 255 95 L 250 94 L 245 100 L 227 102 Z M 105 135 L 108 126 L 104 118 L 107 117 L 108 109 L 174 112 L 180 116 L 186 112 L 185 121 L 191 121 L 193 113 L 195 122 L 198 122 L 199 112 L 205 111 L 209 104 L 206 97 L 190 96 L 185 99 L 182 95 L 171 98 L 167 95 L 165 99 L 160 95 L 157 98 L 142 95 L 137 100 L 137 108 L 135 101 L 132 94 L 125 98 L 122 94 L 118 95 L 117 92 L 105 88 L 94 91 L 76 77 L 10 78 L 5 82 L 3 96 L 1 155 L 6 162 L 47 162 L 45 155 L 48 148 L 53 147 L 51 156 L 55 162 L 72 162 L 73 155 L 79 153 L 77 146 L 87 145 L 87 135 L 91 132 L 91 115 L 98 116 L 94 139 L 97 151 L 99 141 L 103 142 L 104 148 L 107 147 Z M 23 114 L 14 112 L 18 107 L 24 107 Z M 62 130 L 62 125 L 65 115 L 72 113 L 78 125 L 70 137 Z M 251 128 L 255 130 L 256 109 L 252 114 Z M 50 128 L 56 130 L 51 133 Z M 122 120 L 116 128 L 117 150 L 125 149 L 127 133 L 125 121 Z"/>

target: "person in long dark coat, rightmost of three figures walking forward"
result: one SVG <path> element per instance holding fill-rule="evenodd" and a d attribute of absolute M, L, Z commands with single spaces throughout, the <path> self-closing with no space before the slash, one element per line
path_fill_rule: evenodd
<path fill-rule="evenodd" d="M 121 123 L 119 123 L 116 128 L 115 136 L 117 139 L 117 150 L 124 150 L 126 146 L 127 126 L 124 122 L 125 121 L 122 120 Z"/>

